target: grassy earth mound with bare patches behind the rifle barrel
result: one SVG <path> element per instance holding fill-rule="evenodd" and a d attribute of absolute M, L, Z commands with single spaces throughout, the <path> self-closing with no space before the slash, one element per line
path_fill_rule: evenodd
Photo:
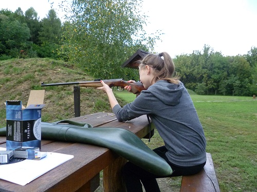
<path fill-rule="evenodd" d="M 100 77 L 101 78 L 101 77 Z M 6 100 L 21 100 L 26 106 L 30 90 L 45 90 L 42 121 L 54 122 L 74 117 L 73 86 L 41 87 L 41 82 L 94 80 L 72 63 L 48 58 L 0 61 L 0 127 L 6 125 Z M 106 94 L 95 88 L 81 88 L 81 115 L 111 112 Z M 119 100 L 124 103 L 124 101 Z"/>

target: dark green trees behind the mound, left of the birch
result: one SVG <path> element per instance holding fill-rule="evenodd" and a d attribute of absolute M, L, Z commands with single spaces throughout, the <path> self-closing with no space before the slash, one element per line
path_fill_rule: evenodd
<path fill-rule="evenodd" d="M 47 17 L 39 20 L 31 7 L 25 13 L 0 11 L 0 59 L 51 57 L 59 58 L 62 25 L 56 12 L 51 9 Z"/>

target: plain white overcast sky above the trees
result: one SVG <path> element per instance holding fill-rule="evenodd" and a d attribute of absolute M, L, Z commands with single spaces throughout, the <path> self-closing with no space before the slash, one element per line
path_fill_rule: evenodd
<path fill-rule="evenodd" d="M 58 9 L 61 0 L 51 0 Z M 40 19 L 50 8 L 48 0 L 1 0 L 0 9 L 23 12 L 33 7 Z M 149 15 L 148 33 L 162 30 L 162 42 L 156 52 L 168 52 L 172 57 L 202 51 L 209 45 L 224 56 L 247 54 L 257 47 L 256 0 L 144 0 L 144 12 Z M 62 13 L 58 12 L 59 18 Z"/>

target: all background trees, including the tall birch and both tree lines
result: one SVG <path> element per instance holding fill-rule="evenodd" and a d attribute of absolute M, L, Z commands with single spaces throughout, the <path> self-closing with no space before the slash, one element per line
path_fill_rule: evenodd
<path fill-rule="evenodd" d="M 31 7 L 23 13 L 0 10 L 0 60 L 52 58 L 72 63 L 95 78 L 139 80 L 138 71 L 121 65 L 138 49 L 154 52 L 161 31 L 147 35 L 141 1 L 73 1 L 66 22 L 49 10 L 39 20 Z M 246 55 L 224 56 L 209 45 L 173 58 L 185 86 L 200 95 L 257 94 L 257 48 Z"/>

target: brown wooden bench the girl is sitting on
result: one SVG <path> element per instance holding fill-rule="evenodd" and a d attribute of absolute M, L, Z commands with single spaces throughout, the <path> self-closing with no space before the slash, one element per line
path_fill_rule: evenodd
<path fill-rule="evenodd" d="M 204 170 L 195 175 L 182 177 L 180 192 L 219 192 L 211 154 L 206 153 L 206 157 Z"/>

